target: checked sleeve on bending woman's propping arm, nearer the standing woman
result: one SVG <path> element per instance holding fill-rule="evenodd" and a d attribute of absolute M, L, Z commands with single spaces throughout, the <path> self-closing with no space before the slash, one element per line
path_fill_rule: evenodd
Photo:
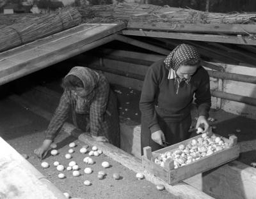
<path fill-rule="evenodd" d="M 102 135 L 102 122 L 108 105 L 109 84 L 106 78 L 102 78 L 96 89 L 96 95 L 90 106 L 90 130 L 91 135 Z"/>

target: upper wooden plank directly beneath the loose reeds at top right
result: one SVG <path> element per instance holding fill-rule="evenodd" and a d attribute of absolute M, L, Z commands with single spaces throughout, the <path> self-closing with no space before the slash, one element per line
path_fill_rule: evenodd
<path fill-rule="evenodd" d="M 177 22 L 138 22 L 129 20 L 127 29 L 145 29 L 154 31 L 189 32 L 189 33 L 256 33 L 254 24 L 182 24 Z"/>

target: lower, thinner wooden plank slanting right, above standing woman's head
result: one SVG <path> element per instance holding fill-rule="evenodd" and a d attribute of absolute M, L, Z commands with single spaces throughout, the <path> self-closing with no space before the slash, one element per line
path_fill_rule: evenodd
<path fill-rule="evenodd" d="M 220 43 L 236 43 L 243 45 L 256 45 L 256 40 L 246 38 L 246 37 L 237 37 L 237 36 L 222 36 L 216 34 L 189 34 L 189 33 L 164 33 L 156 31 L 131 31 L 123 30 L 122 34 L 124 35 L 133 35 L 133 36 L 147 36 L 155 38 L 171 38 L 177 40 L 194 40 L 194 41 L 211 41 L 211 42 L 220 42 Z"/>

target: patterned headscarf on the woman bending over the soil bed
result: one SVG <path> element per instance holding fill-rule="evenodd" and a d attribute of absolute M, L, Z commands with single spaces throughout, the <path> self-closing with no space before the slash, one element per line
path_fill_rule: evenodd
<path fill-rule="evenodd" d="M 90 68 L 76 66 L 69 71 L 65 78 L 68 75 L 78 77 L 79 80 L 83 82 L 84 89 L 86 89 L 88 93 L 88 95 L 83 98 L 77 95 L 73 96 L 76 99 L 76 112 L 83 113 L 86 108 L 86 104 L 92 101 L 92 98 L 95 96 L 95 87 L 99 82 L 99 74 L 90 70 Z"/>

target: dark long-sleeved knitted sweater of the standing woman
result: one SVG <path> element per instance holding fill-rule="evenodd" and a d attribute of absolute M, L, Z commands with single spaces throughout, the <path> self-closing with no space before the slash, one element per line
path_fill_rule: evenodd
<path fill-rule="evenodd" d="M 160 129 L 159 117 L 166 122 L 179 122 L 186 118 L 190 114 L 194 94 L 198 115 L 209 116 L 211 92 L 207 71 L 200 66 L 189 84 L 180 82 L 178 94 L 178 85 L 174 79 L 168 80 L 168 73 L 163 60 L 157 61 L 148 69 L 143 83 L 140 110 L 151 133 Z"/>

